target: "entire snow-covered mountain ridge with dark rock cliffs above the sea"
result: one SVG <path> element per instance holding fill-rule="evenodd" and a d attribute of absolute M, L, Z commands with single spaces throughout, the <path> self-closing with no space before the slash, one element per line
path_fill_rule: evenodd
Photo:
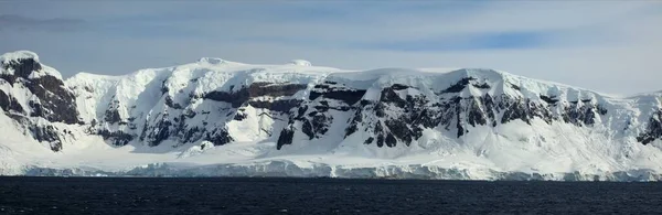
<path fill-rule="evenodd" d="M 32 52 L 0 63 L 0 174 L 662 179 L 662 92 L 302 60 L 66 80 Z"/>

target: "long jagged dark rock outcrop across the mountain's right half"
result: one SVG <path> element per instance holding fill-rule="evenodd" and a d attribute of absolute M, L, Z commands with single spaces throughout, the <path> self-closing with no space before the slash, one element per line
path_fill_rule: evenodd
<path fill-rule="evenodd" d="M 290 136 L 296 125 L 301 125 L 300 130 L 309 139 L 321 138 L 327 132 L 327 127 L 333 122 L 333 115 L 327 114 L 328 109 L 353 111 L 353 117 L 345 126 L 344 137 L 356 131 L 371 133 L 364 140 L 365 144 L 375 143 L 376 147 L 395 147 L 398 143 L 409 146 L 423 136 L 423 130 L 428 128 L 444 128 L 457 133 L 457 138 L 469 133 L 473 127 L 509 123 L 521 120 L 532 123 L 541 119 L 546 123 L 573 123 L 592 126 L 597 118 L 607 114 L 607 109 L 590 100 L 583 103 L 556 104 L 553 99 L 532 100 L 528 98 L 513 97 L 510 95 L 490 95 L 461 97 L 459 93 L 466 87 L 489 89 L 485 83 L 476 82 L 477 78 L 460 79 L 450 87 L 440 90 L 436 98 L 430 98 L 412 86 L 394 84 L 381 90 L 378 100 L 361 100 L 355 89 L 340 86 L 338 89 L 331 85 L 316 86 L 323 89 L 310 103 L 299 108 L 299 116 L 292 118 L 289 127 L 281 135 Z M 364 94 L 364 92 L 362 93 Z M 331 96 L 330 96 L 331 95 Z M 322 97 L 321 100 L 318 97 Z M 348 99 L 351 98 L 351 99 Z M 341 100 L 350 106 L 338 105 L 324 107 L 328 99 Z M 348 101 L 349 100 L 349 101 Z M 562 107 L 560 112 L 553 111 Z M 320 108 L 321 107 L 321 108 Z M 307 112 L 302 115 L 301 112 Z M 299 121 L 299 123 L 296 123 Z M 287 130 L 287 131 L 285 131 Z M 281 140 L 281 139 L 279 139 Z M 282 142 L 288 143 L 289 138 Z"/>

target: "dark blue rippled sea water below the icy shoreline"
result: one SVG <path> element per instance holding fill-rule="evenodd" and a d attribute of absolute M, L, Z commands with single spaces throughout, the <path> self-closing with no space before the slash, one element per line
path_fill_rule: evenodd
<path fill-rule="evenodd" d="M 0 214 L 662 214 L 662 183 L 0 178 Z"/>

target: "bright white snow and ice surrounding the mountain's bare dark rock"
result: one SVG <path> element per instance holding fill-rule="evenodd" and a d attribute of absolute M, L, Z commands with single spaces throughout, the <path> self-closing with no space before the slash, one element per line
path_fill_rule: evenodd
<path fill-rule="evenodd" d="M 1 60 L 21 57 L 38 60 L 36 54 L 23 51 L 4 54 Z M 55 71 L 46 66 L 44 69 Z M 606 96 L 481 68 L 346 71 L 312 66 L 302 60 L 286 65 L 252 65 L 212 57 L 124 76 L 79 73 L 66 79 L 65 85 L 76 95 L 81 118 L 88 123 L 102 119 L 108 105 L 117 106 L 122 118 L 140 116 L 149 119 L 164 109 L 173 111 L 163 105 L 162 85 L 168 87 L 166 94 L 174 103 L 185 104 L 186 109 L 206 110 L 228 105 L 192 97 L 213 90 L 229 92 L 257 82 L 306 84 L 310 89 L 329 80 L 366 89 L 364 99 L 375 100 L 383 87 L 393 84 L 415 87 L 407 93 L 409 95 L 433 95 L 469 76 L 492 87 L 467 87 L 459 93 L 462 97 L 505 94 L 540 100 L 538 95 L 549 95 L 559 103 L 591 99 L 590 103 L 599 103 L 610 111 L 591 127 L 549 125 L 536 118 L 531 125 L 515 120 L 498 127 L 477 126 L 460 138 L 442 128 L 425 129 L 423 137 L 410 147 L 398 144 L 394 148 L 364 144 L 366 135 L 361 132 L 343 138 L 343 125 L 334 122 L 322 139 L 308 140 L 298 137 L 299 132 L 293 144 L 276 150 L 277 137 L 269 137 L 266 131 L 277 133 L 285 125 L 279 122 L 277 115 L 265 118 L 260 115 L 265 110 L 246 107 L 244 112 L 248 118 L 243 121 L 223 121 L 223 116 L 216 116 L 220 117 L 217 121 L 210 120 L 211 123 L 224 123 L 236 140 L 224 146 L 214 147 L 206 141 L 180 144 L 166 140 L 158 147 L 139 142 L 115 147 L 99 136 L 88 135 L 87 126 L 53 123 L 72 132 L 60 152 L 32 139 L 29 131 L 8 114 L 0 114 L 0 174 L 555 181 L 662 179 L 662 142 L 655 140 L 644 146 L 634 139 L 643 131 L 652 112 L 662 107 L 660 92 L 632 97 Z M 3 84 L 1 87 L 20 95 L 13 89 L 15 86 Z M 306 98 L 308 92 L 292 97 Z M 334 121 L 348 121 L 352 117 L 341 111 L 333 116 Z M 202 125 L 203 120 L 191 123 Z M 142 126 L 140 123 L 138 127 Z"/>

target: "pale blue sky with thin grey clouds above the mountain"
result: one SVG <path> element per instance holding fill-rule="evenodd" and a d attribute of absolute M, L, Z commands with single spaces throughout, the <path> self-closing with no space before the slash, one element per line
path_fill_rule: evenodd
<path fill-rule="evenodd" d="M 220 57 L 346 69 L 480 67 L 662 90 L 662 1 L 3 1 L 0 53 L 70 77 Z"/>

